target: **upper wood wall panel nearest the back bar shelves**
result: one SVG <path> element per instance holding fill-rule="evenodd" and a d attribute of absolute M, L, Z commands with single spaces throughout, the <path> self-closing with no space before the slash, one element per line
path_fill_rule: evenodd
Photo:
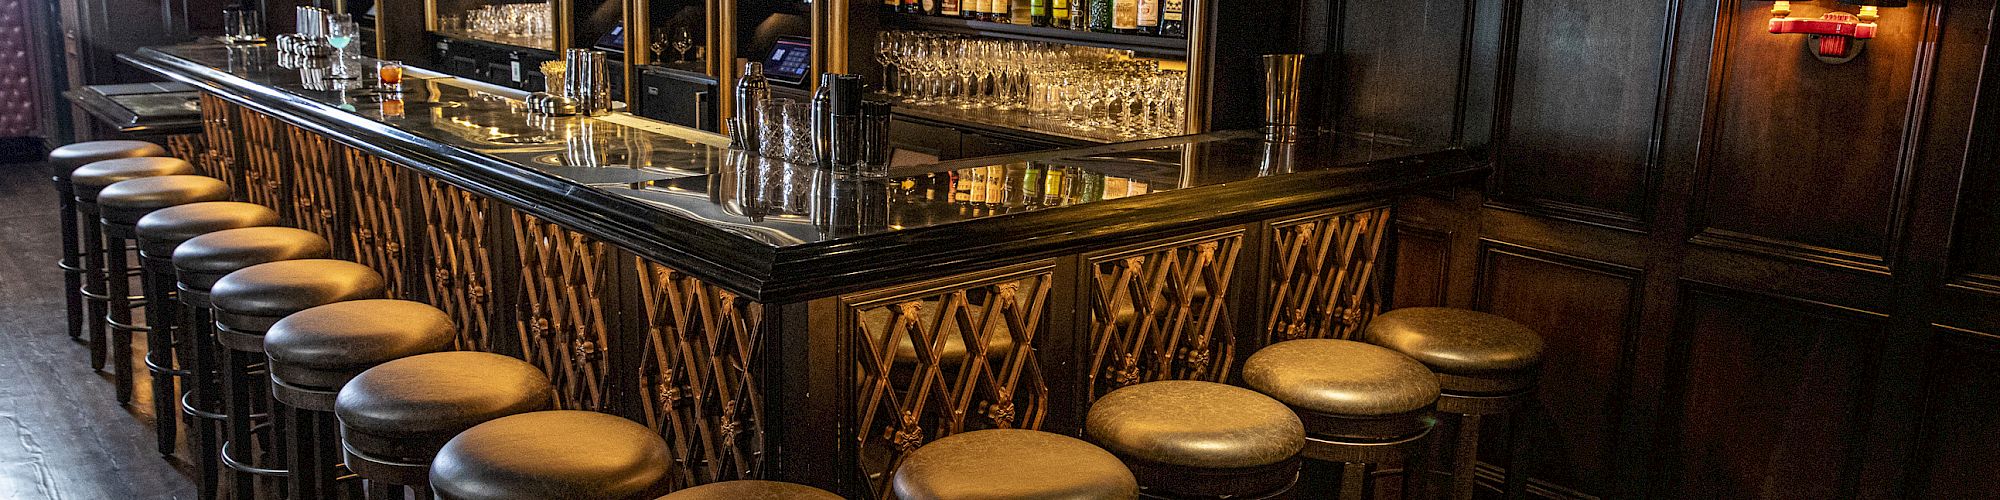
<path fill-rule="evenodd" d="M 1474 0 L 1350 2 L 1340 44 L 1338 122 L 1390 142 L 1450 144 L 1464 54 L 1466 10 Z M 1416 12 L 1412 12 L 1416 10 Z"/>

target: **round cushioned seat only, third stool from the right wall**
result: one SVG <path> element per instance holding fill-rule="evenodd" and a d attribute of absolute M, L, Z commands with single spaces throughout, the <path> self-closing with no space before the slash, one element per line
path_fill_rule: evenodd
<path fill-rule="evenodd" d="M 1090 440 L 1122 456 L 1190 468 L 1252 468 L 1292 458 L 1306 426 L 1256 390 L 1162 380 L 1112 390 L 1090 404 Z"/>

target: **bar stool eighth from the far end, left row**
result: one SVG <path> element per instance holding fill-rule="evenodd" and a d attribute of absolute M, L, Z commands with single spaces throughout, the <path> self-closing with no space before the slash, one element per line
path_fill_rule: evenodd
<path fill-rule="evenodd" d="M 492 352 L 432 352 L 364 370 L 340 388 L 334 416 L 348 470 L 368 498 L 430 498 L 430 460 L 486 420 L 548 410 L 556 390 L 534 364 Z"/>

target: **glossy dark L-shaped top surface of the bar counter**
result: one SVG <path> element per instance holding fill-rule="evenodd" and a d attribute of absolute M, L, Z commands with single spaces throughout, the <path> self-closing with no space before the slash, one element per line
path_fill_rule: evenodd
<path fill-rule="evenodd" d="M 268 46 L 126 62 L 492 196 L 758 302 L 792 302 L 1478 180 L 1484 160 L 1246 132 L 898 166 L 864 180 L 626 114 L 536 116 L 518 90 L 410 70 L 400 100 Z M 374 60 L 356 64 L 372 76 Z M 372 78 L 364 78 L 372 80 Z"/>

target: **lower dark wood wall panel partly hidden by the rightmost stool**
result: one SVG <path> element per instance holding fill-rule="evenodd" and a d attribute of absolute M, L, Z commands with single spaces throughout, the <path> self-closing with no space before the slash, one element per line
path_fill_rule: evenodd
<path fill-rule="evenodd" d="M 1628 380 L 1628 346 L 1638 320 L 1638 270 L 1486 242 L 1480 258 L 1480 310 L 1526 324 L 1546 342 L 1542 380 L 1522 418 L 1536 442 L 1536 480 L 1588 492 L 1612 482 L 1614 440 Z M 1500 426 L 1490 426 L 1500 430 Z M 1502 436 L 1488 432 L 1490 438 Z M 1504 450 L 1498 440 L 1482 452 Z M 1506 456 L 1486 462 L 1510 466 Z"/>

